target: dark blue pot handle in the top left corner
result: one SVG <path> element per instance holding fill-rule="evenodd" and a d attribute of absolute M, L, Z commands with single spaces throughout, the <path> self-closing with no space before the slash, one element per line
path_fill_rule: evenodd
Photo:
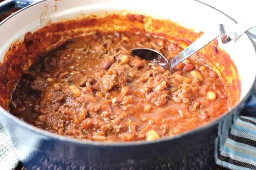
<path fill-rule="evenodd" d="M 38 0 L 5 0 L 0 2 L 0 14 L 10 11 L 13 8 L 25 8 Z"/>

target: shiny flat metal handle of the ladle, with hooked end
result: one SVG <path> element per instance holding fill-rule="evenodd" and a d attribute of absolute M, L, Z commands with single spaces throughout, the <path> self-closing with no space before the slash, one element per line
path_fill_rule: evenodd
<path fill-rule="evenodd" d="M 199 51 L 201 48 L 206 46 L 218 36 L 221 36 L 222 43 L 228 43 L 229 41 L 240 37 L 244 32 L 255 26 L 256 24 L 253 24 L 251 22 L 241 21 L 240 23 L 236 24 L 233 31 L 229 31 L 230 33 L 227 33 L 225 25 L 219 24 L 217 28 L 212 29 L 213 31 L 204 33 L 196 41 L 194 41 L 187 48 L 185 48 L 174 58 L 172 58 L 170 60 L 170 65 L 172 68 L 174 68 L 179 63 L 189 58 L 191 55 L 195 54 L 197 51 Z"/>

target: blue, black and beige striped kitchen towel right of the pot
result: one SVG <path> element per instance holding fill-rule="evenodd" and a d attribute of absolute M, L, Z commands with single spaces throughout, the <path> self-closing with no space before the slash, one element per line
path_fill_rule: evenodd
<path fill-rule="evenodd" d="M 223 122 L 220 129 L 229 123 Z M 240 116 L 228 133 L 219 135 L 215 162 L 231 170 L 256 170 L 256 118 Z"/>

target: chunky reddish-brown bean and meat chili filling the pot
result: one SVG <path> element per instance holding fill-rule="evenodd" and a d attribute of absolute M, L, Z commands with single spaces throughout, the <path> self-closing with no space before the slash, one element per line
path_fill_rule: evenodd
<path fill-rule="evenodd" d="M 96 33 L 53 50 L 23 71 L 10 112 L 41 129 L 95 141 L 154 140 L 202 126 L 229 108 L 217 73 L 185 60 L 170 75 L 132 56 L 147 47 L 182 50 L 150 33 Z"/>

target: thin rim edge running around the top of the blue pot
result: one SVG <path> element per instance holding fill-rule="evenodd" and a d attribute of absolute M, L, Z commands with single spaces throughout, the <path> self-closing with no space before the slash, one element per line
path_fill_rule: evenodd
<path fill-rule="evenodd" d="M 19 12 L 21 12 L 23 10 L 26 10 L 30 7 L 33 7 L 34 5 L 37 5 L 39 3 L 43 3 L 44 1 L 47 1 L 47 0 L 40 0 L 40 1 L 37 1 L 37 2 L 35 2 L 35 3 L 33 3 L 29 6 L 25 7 L 25 8 L 20 9 L 19 11 L 15 12 L 11 16 L 7 17 L 2 22 L 0 22 L 0 26 L 3 25 L 5 23 L 5 21 L 9 20 L 11 17 L 17 15 Z M 220 11 L 219 9 L 217 9 L 215 7 L 212 7 L 211 5 L 208 5 L 206 3 L 203 3 L 199 0 L 194 0 L 194 1 L 196 1 L 197 3 L 201 3 L 203 5 L 206 5 L 210 8 L 212 8 L 212 9 L 215 9 L 216 11 L 222 13 L 224 16 L 228 17 L 234 23 L 237 23 L 237 21 L 235 19 L 233 19 L 232 17 L 230 17 L 226 13 Z M 249 40 L 251 40 L 251 43 L 253 45 L 253 48 L 254 48 L 255 54 L 256 54 L 256 43 L 250 37 L 250 36 L 252 36 L 252 37 L 256 38 L 256 36 L 253 33 L 249 32 L 249 31 L 247 31 L 245 34 L 248 36 Z M 105 147 L 105 146 L 108 146 L 108 147 L 121 147 L 121 146 L 126 147 L 126 146 L 151 145 L 151 144 L 156 144 L 156 143 L 159 143 L 159 142 L 166 142 L 166 141 L 179 139 L 179 138 L 182 138 L 183 136 L 188 135 L 188 134 L 199 133 L 200 131 L 206 130 L 206 129 L 214 126 L 215 124 L 221 122 L 223 119 L 225 119 L 226 116 L 228 116 L 228 115 L 232 114 L 232 112 L 236 111 L 236 108 L 238 106 L 240 106 L 240 105 L 242 105 L 246 102 L 246 100 L 249 98 L 249 96 L 251 96 L 251 92 L 255 88 L 255 84 L 256 84 L 256 73 L 255 73 L 255 78 L 254 78 L 254 81 L 252 83 L 252 86 L 250 87 L 250 89 L 248 90 L 248 92 L 246 93 L 244 98 L 242 98 L 240 100 L 240 102 L 238 102 L 230 110 L 226 111 L 225 113 L 223 113 L 221 116 L 219 116 L 215 120 L 212 120 L 211 122 L 208 122 L 204 126 L 197 127 L 196 129 L 189 130 L 189 131 L 186 131 L 184 133 L 174 135 L 173 137 L 161 137 L 161 138 L 159 138 L 157 140 L 154 140 L 154 141 L 143 140 L 143 141 L 130 141 L 130 142 L 98 142 L 98 141 L 84 141 L 82 139 L 68 138 L 68 137 L 65 137 L 63 135 L 50 133 L 46 130 L 39 129 L 38 127 L 35 127 L 35 126 L 33 126 L 29 123 L 26 123 L 23 120 L 17 118 L 16 116 L 12 115 L 10 112 L 6 111 L 1 106 L 0 106 L 0 112 L 1 112 L 1 114 L 4 114 L 4 116 L 6 116 L 8 119 L 10 119 L 13 123 L 18 124 L 18 125 L 22 126 L 23 128 L 28 129 L 28 130 L 31 130 L 34 133 L 37 133 L 38 135 L 45 136 L 48 139 L 55 139 L 55 140 L 58 140 L 60 142 L 67 142 L 67 143 L 70 143 L 70 144 L 81 145 L 81 146 L 90 145 L 90 146 L 97 146 L 97 147 Z"/>

